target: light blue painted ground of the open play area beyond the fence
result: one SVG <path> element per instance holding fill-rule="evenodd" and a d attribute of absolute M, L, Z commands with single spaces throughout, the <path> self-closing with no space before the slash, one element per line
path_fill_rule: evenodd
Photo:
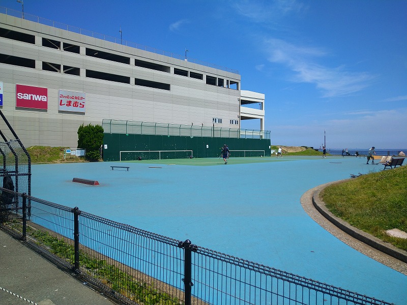
<path fill-rule="evenodd" d="M 318 185 L 382 169 L 363 158 L 290 156 L 33 165 L 32 195 L 402 305 L 407 276 L 345 245 L 300 203 Z"/>

